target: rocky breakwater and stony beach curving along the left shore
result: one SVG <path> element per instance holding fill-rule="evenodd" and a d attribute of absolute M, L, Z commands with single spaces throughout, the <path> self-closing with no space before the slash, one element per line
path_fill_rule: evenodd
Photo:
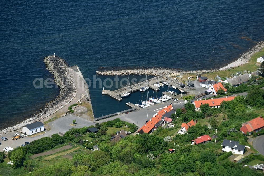
<path fill-rule="evenodd" d="M 59 95 L 43 109 L 40 109 L 38 114 L 33 115 L 31 118 L 26 119 L 15 126 L 1 130 L 0 134 L 6 134 L 18 130 L 26 124 L 40 121 L 41 119 L 48 117 L 70 103 L 76 96 L 77 90 L 74 86 L 75 80 L 73 80 L 71 76 L 74 74 L 74 71 L 68 66 L 66 61 L 58 56 L 48 56 L 44 58 L 44 63 L 46 64 L 47 70 L 53 75 L 54 82 L 60 88 Z"/>

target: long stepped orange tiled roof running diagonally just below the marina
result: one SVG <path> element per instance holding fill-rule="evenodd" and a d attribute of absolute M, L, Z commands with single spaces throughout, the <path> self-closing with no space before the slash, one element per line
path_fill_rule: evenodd
<path fill-rule="evenodd" d="M 139 130 L 142 130 L 144 133 L 149 133 L 154 127 L 155 124 L 158 123 L 161 120 L 161 117 L 163 114 L 165 114 L 168 111 L 173 110 L 172 104 L 165 107 L 164 109 L 160 110 L 157 114 L 155 114 L 150 121 L 148 121 L 146 124 L 144 124 Z"/>

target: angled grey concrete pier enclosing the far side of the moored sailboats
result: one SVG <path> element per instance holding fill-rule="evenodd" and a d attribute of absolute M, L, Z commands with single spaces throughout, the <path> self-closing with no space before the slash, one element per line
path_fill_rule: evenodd
<path fill-rule="evenodd" d="M 177 89 L 182 89 L 184 92 L 186 92 L 187 94 L 188 93 L 196 93 L 197 90 L 190 90 L 190 89 L 187 89 L 185 87 L 181 87 L 181 82 L 179 81 L 176 81 L 166 75 L 161 75 L 161 76 L 157 76 L 155 78 L 151 78 L 149 80 L 146 80 L 146 81 L 143 81 L 143 82 L 140 82 L 138 84 L 134 84 L 134 85 L 131 85 L 129 87 L 129 89 L 131 90 L 131 92 L 134 92 L 134 91 L 138 91 L 140 90 L 141 87 L 149 87 L 155 91 L 158 91 L 159 88 L 154 86 L 154 84 L 156 84 L 157 82 L 163 82 L 163 81 L 166 81 L 168 82 L 171 86 L 175 86 Z M 110 91 L 110 90 L 105 90 L 103 89 L 102 90 L 102 94 L 107 94 L 109 96 L 111 96 L 112 98 L 116 99 L 117 101 L 121 101 L 122 98 L 120 97 L 120 95 L 122 95 L 123 93 L 127 92 L 127 87 L 124 87 L 124 88 L 121 88 L 121 89 L 117 89 L 117 90 L 114 90 L 114 91 Z"/>

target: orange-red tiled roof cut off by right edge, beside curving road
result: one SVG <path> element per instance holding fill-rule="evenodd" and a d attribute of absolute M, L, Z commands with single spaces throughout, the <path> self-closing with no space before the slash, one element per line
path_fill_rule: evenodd
<path fill-rule="evenodd" d="M 246 123 L 242 124 L 240 131 L 244 133 L 255 131 L 256 129 L 264 127 L 264 119 L 262 116 L 254 118 Z"/>

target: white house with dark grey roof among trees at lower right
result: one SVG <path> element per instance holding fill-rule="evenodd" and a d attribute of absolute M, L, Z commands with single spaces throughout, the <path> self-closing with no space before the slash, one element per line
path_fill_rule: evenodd
<path fill-rule="evenodd" d="M 233 154 L 243 155 L 245 151 L 244 145 L 238 145 L 238 141 L 224 139 L 222 143 L 222 152 L 232 152 Z"/>

